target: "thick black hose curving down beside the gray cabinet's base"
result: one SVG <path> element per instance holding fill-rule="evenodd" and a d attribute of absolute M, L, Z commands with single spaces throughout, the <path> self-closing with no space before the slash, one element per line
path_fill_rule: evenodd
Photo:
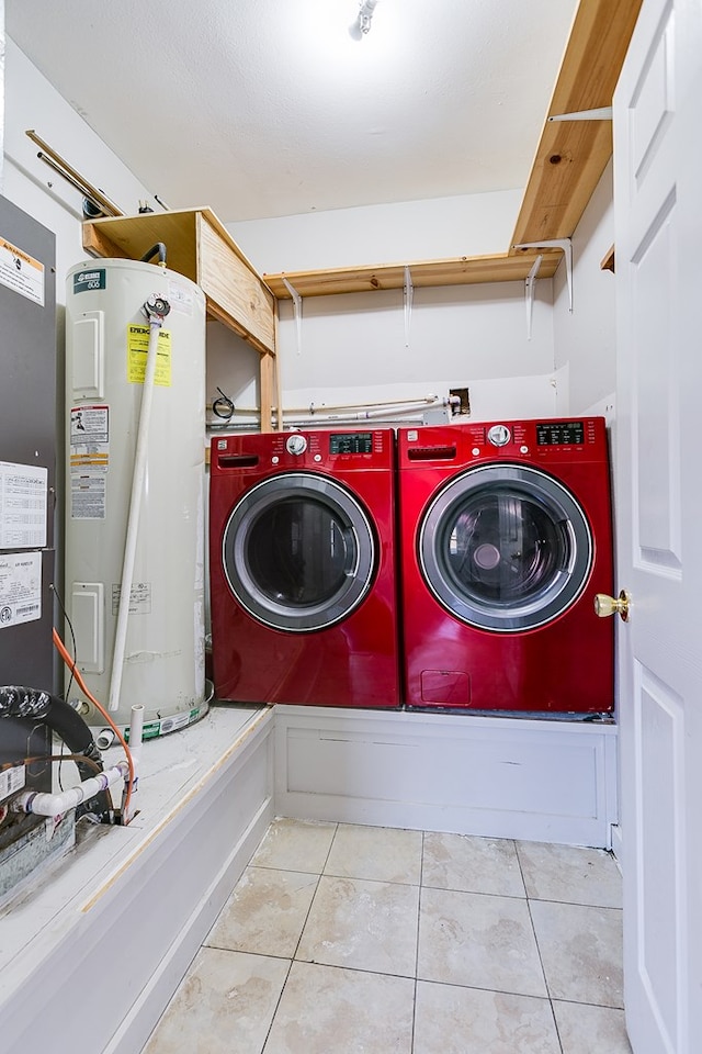
<path fill-rule="evenodd" d="M 43 721 L 53 732 L 63 739 L 73 754 L 82 754 L 95 762 L 103 771 L 102 754 L 92 732 L 80 714 L 57 695 L 50 695 L 42 688 L 30 688 L 21 684 L 0 687 L 0 718 L 15 717 L 27 721 Z M 81 781 L 94 776 L 94 769 L 80 761 L 76 767 Z M 100 790 L 93 798 L 81 801 L 76 808 L 76 819 L 86 812 L 92 812 L 101 823 L 112 823 L 114 807 L 109 790 Z"/>

